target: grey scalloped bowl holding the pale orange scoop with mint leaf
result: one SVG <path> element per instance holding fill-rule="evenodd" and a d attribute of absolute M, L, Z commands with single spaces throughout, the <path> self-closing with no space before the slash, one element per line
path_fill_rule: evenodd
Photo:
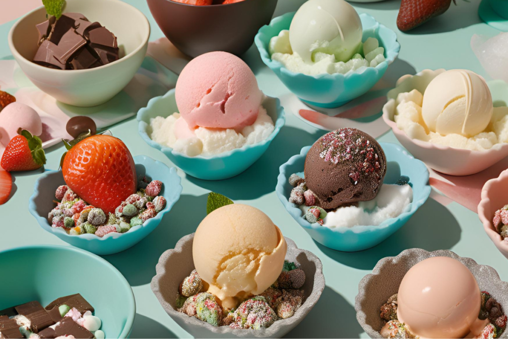
<path fill-rule="evenodd" d="M 280 338 L 298 325 L 319 300 L 325 288 L 321 260 L 309 251 L 299 249 L 295 242 L 285 238 L 288 252 L 285 259 L 300 264 L 305 272 L 303 290 L 305 301 L 293 317 L 277 320 L 272 326 L 259 330 L 215 327 L 207 322 L 176 311 L 176 296 L 180 282 L 194 269 L 192 246 L 194 233 L 178 240 L 174 250 L 163 253 L 156 266 L 151 288 L 168 315 L 190 335 L 196 338 L 260 337 Z"/>

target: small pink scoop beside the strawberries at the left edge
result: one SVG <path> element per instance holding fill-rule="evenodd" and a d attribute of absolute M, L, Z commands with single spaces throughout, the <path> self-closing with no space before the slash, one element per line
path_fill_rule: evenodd
<path fill-rule="evenodd" d="M 7 146 L 9 141 L 18 135 L 20 128 L 32 135 L 40 136 L 42 134 L 41 117 L 30 106 L 13 102 L 0 112 L 0 142 Z"/>

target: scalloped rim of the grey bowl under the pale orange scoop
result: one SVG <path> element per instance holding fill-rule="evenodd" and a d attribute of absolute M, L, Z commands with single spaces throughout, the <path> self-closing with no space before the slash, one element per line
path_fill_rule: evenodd
<path fill-rule="evenodd" d="M 315 273 L 314 273 L 314 285 L 312 286 L 312 292 L 307 296 L 307 298 L 305 299 L 305 302 L 302 303 L 302 306 L 300 306 L 300 308 L 295 312 L 295 314 L 292 317 L 287 318 L 287 319 L 277 320 L 268 328 L 262 328 L 262 329 L 255 330 L 256 331 L 255 333 L 250 332 L 250 331 L 252 331 L 252 329 L 233 329 L 229 326 L 213 326 L 213 325 L 210 325 L 209 323 L 207 323 L 206 321 L 199 320 L 195 317 L 189 317 L 188 315 L 175 310 L 173 308 L 173 306 L 171 306 L 166 300 L 164 300 L 164 298 L 161 295 L 160 288 L 158 286 L 158 282 L 161 280 L 161 278 L 164 274 L 167 274 L 166 268 L 164 266 L 165 263 L 168 261 L 168 259 L 173 254 L 183 253 L 183 246 L 186 243 L 188 243 L 189 241 L 192 241 L 194 239 L 194 234 L 195 233 L 191 233 L 191 234 L 183 236 L 175 244 L 174 249 L 166 250 L 161 255 L 161 257 L 159 258 L 157 265 L 155 267 L 156 274 L 152 278 L 152 281 L 150 283 L 150 288 L 151 288 L 152 292 L 155 294 L 158 301 L 161 303 L 161 306 L 168 313 L 168 315 L 170 317 L 180 318 L 182 321 L 186 322 L 189 325 L 198 326 L 198 327 L 207 329 L 213 333 L 218 333 L 218 334 L 252 333 L 254 335 L 247 336 L 247 337 L 254 337 L 254 336 L 256 336 L 256 337 L 271 337 L 271 336 L 275 335 L 278 330 L 281 329 L 281 326 L 283 326 L 285 324 L 291 324 L 292 320 L 305 318 L 307 313 L 312 309 L 312 307 L 315 305 L 315 303 L 317 303 L 317 301 L 321 297 L 321 294 L 323 293 L 323 290 L 325 289 L 326 283 L 325 283 L 325 276 L 323 274 L 323 264 L 322 264 L 321 260 L 319 259 L 319 257 L 317 257 L 315 254 L 313 254 L 310 251 L 298 248 L 298 246 L 292 239 L 290 239 L 288 237 L 284 237 L 287 244 L 288 244 L 288 251 L 291 248 L 291 249 L 298 250 L 299 253 L 304 253 L 307 257 L 312 259 L 311 261 L 315 264 L 315 268 L 316 268 Z M 316 278 L 321 278 L 321 279 L 316 279 Z M 309 304 L 310 309 L 308 309 L 308 310 L 307 310 L 307 308 L 304 309 L 303 306 L 305 305 L 307 300 L 312 296 L 317 297 L 317 299 L 315 300 L 315 303 Z M 164 304 L 163 304 L 163 302 L 164 302 Z M 245 335 L 240 335 L 240 336 L 245 336 Z"/>

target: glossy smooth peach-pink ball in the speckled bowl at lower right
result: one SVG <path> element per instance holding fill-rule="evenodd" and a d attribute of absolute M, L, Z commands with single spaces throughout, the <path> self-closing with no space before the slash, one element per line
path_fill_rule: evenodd
<path fill-rule="evenodd" d="M 399 321 L 413 334 L 463 338 L 479 320 L 481 294 L 473 274 L 460 261 L 433 257 L 407 271 L 397 303 Z"/>

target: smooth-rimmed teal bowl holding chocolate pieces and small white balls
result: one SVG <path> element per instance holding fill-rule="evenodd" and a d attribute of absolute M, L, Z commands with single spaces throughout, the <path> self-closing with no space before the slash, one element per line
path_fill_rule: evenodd
<path fill-rule="evenodd" d="M 0 252 L 0 310 L 80 293 L 102 320 L 107 338 L 128 338 L 136 301 L 123 275 L 106 260 L 66 246 L 27 246 Z M 8 278 L 9 277 L 9 278 Z M 100 288 L 111 286 L 112 288 Z"/>

